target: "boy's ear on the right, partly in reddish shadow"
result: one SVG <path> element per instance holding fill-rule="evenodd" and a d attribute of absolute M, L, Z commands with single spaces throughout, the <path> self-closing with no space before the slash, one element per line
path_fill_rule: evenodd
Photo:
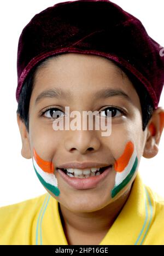
<path fill-rule="evenodd" d="M 158 107 L 147 126 L 147 140 L 144 147 L 144 158 L 153 158 L 159 152 L 159 143 L 164 127 L 164 109 Z"/>

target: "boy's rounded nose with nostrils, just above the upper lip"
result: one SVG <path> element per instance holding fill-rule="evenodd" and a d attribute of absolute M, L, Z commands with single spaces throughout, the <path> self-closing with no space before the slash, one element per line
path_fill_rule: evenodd
<path fill-rule="evenodd" d="M 90 130 L 71 131 L 69 138 L 65 141 L 67 151 L 79 152 L 80 154 L 96 152 L 100 146 L 98 137 Z"/>

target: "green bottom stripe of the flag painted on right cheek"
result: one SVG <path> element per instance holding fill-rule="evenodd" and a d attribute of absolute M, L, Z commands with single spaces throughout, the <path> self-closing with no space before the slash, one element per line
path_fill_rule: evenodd
<path fill-rule="evenodd" d="M 127 185 L 127 183 L 130 181 L 130 179 L 132 178 L 134 172 L 136 171 L 137 164 L 138 164 L 138 158 L 137 158 L 137 156 L 136 156 L 136 159 L 135 159 L 135 161 L 134 161 L 134 164 L 133 164 L 133 167 L 132 167 L 131 172 L 130 172 L 130 173 L 128 174 L 128 176 L 124 179 L 124 181 L 122 181 L 118 186 L 116 186 L 116 187 L 114 187 L 114 188 L 112 189 L 112 198 L 113 198 L 114 196 L 116 196 L 116 195 L 120 192 L 120 190 L 121 190 L 122 188 L 124 188 L 124 187 Z"/>

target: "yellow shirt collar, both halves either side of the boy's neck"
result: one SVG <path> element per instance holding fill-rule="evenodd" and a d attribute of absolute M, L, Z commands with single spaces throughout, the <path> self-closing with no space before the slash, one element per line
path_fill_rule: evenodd
<path fill-rule="evenodd" d="M 59 212 L 59 203 L 46 193 L 40 217 L 38 244 L 68 245 Z M 130 196 L 99 245 L 142 245 L 155 215 L 151 194 L 137 173 Z M 38 225 L 38 226 L 39 226 Z M 36 234 L 37 237 L 37 234 Z M 37 238 L 36 238 L 37 240 Z"/>

